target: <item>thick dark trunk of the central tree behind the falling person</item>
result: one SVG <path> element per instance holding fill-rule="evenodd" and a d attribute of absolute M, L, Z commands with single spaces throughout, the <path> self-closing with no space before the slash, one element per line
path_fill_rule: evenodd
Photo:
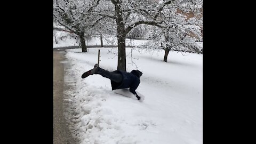
<path fill-rule="evenodd" d="M 126 53 L 125 53 L 125 27 L 124 21 L 122 18 L 122 11 L 119 4 L 115 5 L 116 9 L 116 25 L 117 25 L 117 46 L 118 46 L 118 61 L 117 61 L 117 70 L 126 71 Z"/>

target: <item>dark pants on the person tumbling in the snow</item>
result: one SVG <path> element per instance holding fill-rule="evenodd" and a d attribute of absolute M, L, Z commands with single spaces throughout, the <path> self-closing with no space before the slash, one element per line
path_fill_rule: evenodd
<path fill-rule="evenodd" d="M 110 72 L 99 67 L 99 69 L 95 71 L 95 74 L 99 74 L 103 77 L 109 78 L 111 81 L 114 81 L 116 83 L 120 83 L 123 81 L 123 76 L 116 71 Z"/>

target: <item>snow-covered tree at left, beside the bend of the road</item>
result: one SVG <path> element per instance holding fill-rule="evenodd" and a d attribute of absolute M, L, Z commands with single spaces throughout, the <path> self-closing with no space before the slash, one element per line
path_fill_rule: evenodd
<path fill-rule="evenodd" d="M 93 27 L 103 19 L 100 15 L 84 15 L 81 12 L 91 12 L 93 1 L 56 0 L 53 4 L 53 16 L 60 25 L 75 33 L 80 39 L 82 52 L 87 52 L 85 38 L 93 34 Z M 67 31 L 67 30 L 66 30 Z"/>

